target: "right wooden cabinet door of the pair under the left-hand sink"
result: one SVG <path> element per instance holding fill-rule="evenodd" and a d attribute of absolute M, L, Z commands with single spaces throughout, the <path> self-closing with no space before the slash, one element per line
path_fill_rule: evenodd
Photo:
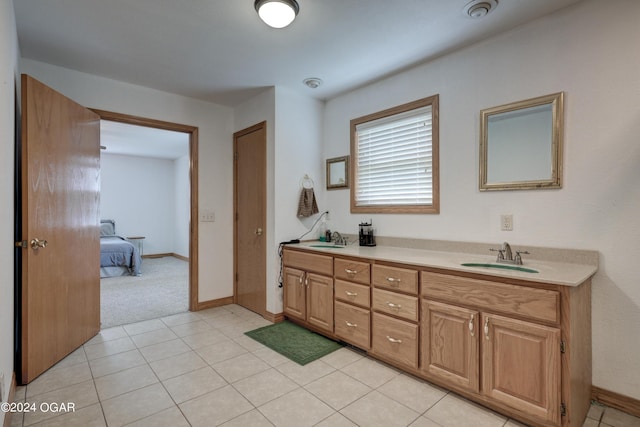
<path fill-rule="evenodd" d="M 307 322 L 333 333 L 333 279 L 307 273 Z"/>

